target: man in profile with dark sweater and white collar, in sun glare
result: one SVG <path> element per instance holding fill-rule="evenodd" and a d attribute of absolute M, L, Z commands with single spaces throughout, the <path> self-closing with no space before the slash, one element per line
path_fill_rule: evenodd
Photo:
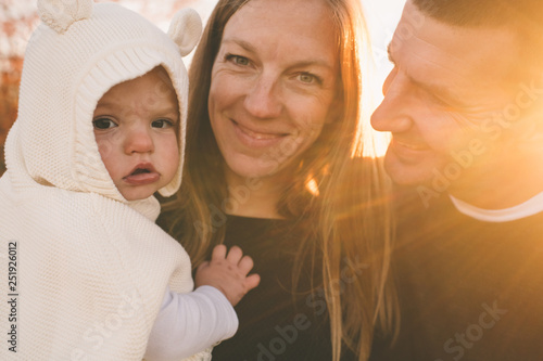
<path fill-rule="evenodd" d="M 407 0 L 371 118 L 402 199 L 375 360 L 543 360 L 543 1 Z"/>

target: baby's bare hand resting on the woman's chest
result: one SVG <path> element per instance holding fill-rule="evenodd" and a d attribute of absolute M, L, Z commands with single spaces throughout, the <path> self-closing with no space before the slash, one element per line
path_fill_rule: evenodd
<path fill-rule="evenodd" d="M 253 260 L 243 256 L 240 247 L 233 246 L 226 254 L 226 246 L 218 245 L 213 248 L 211 261 L 205 261 L 198 267 L 195 285 L 209 285 L 219 289 L 226 298 L 236 306 L 241 298 L 261 282 L 258 274 L 251 274 Z"/>

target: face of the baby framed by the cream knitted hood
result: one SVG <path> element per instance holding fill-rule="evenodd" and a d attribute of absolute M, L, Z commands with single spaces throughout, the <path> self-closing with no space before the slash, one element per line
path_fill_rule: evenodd
<path fill-rule="evenodd" d="M 111 88 L 92 125 L 102 162 L 127 201 L 147 198 L 172 181 L 179 166 L 179 107 L 164 68 Z"/>

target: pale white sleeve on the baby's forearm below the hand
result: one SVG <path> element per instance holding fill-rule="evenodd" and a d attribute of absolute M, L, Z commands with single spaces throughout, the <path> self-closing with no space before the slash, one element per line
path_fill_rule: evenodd
<path fill-rule="evenodd" d="M 188 294 L 166 289 L 146 351 L 146 360 L 179 361 L 238 330 L 233 307 L 220 291 L 201 286 Z"/>

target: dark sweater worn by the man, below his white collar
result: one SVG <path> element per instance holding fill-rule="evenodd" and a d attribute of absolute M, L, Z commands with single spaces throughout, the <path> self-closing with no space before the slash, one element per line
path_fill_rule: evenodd
<path fill-rule="evenodd" d="M 371 360 L 542 361 L 543 212 L 483 222 L 443 195 L 428 209 L 412 197 L 400 215 L 402 326 Z"/>

